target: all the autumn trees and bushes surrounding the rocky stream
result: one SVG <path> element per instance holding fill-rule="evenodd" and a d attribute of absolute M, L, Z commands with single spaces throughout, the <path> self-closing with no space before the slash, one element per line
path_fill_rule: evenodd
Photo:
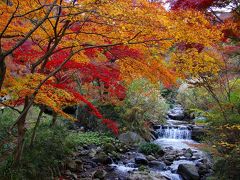
<path fill-rule="evenodd" d="M 229 0 L 1 0 L 0 174 L 60 177 L 79 147 L 152 140 L 179 103 L 207 129 L 212 178 L 238 179 L 239 14 Z"/>

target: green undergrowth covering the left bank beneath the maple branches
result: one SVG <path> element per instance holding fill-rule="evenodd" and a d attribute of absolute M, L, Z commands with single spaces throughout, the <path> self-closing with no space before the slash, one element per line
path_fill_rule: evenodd
<path fill-rule="evenodd" d="M 14 116 L 13 116 L 14 115 Z M 0 116 L 0 140 L 8 137 L 7 130 L 16 119 L 11 110 Z M 36 131 L 33 147 L 30 147 L 34 119 L 28 120 L 24 149 L 19 166 L 13 165 L 15 142 L 14 136 L 8 138 L 0 147 L 0 179 L 54 179 L 60 175 L 60 168 L 66 158 L 76 151 L 77 147 L 90 144 L 103 145 L 115 139 L 97 132 L 70 131 L 64 123 L 57 123 L 50 128 L 51 118 L 44 115 Z M 6 152 L 9 152 L 6 154 Z M 4 159 L 2 159 L 4 155 Z"/>

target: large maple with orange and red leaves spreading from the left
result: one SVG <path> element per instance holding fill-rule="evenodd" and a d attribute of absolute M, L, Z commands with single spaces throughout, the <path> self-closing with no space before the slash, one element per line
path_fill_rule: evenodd
<path fill-rule="evenodd" d="M 33 104 L 73 119 L 62 108 L 81 101 L 117 132 L 116 124 L 77 91 L 76 78 L 88 86 L 100 82 L 100 89 L 121 99 L 123 85 L 136 78 L 170 86 L 189 64 L 193 76 L 219 71 L 215 46 L 222 34 L 201 12 L 168 12 L 145 0 L 7 2 L 0 2 L 0 89 L 11 96 L 6 105 L 24 104 L 14 124 L 16 161 Z"/>

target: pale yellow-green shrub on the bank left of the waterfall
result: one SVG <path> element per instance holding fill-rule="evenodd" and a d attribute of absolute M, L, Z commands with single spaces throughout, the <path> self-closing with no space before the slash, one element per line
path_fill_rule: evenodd
<path fill-rule="evenodd" d="M 157 85 L 145 79 L 136 80 L 129 86 L 121 108 L 122 126 L 151 140 L 151 124 L 163 123 L 168 107 Z"/>

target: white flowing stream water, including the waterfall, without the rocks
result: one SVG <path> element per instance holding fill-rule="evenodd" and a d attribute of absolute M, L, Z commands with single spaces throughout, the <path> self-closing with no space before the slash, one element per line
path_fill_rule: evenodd
<path fill-rule="evenodd" d="M 181 159 L 174 160 L 173 163 L 168 166 L 167 170 L 158 171 L 163 176 L 171 180 L 182 180 L 181 176 L 177 174 L 177 169 L 180 164 L 196 164 L 200 158 L 204 157 L 204 154 L 196 148 L 193 148 L 192 144 L 198 144 L 196 141 L 191 139 L 191 125 L 184 121 L 184 109 L 180 105 L 174 106 L 168 112 L 167 124 L 159 126 L 155 133 L 158 138 L 154 141 L 162 148 L 170 148 L 172 150 L 183 151 L 184 149 L 191 149 L 194 152 L 196 159 L 185 158 L 182 156 Z M 137 170 L 135 167 L 129 167 L 123 164 L 114 164 L 116 169 L 120 172 L 134 171 Z"/>

